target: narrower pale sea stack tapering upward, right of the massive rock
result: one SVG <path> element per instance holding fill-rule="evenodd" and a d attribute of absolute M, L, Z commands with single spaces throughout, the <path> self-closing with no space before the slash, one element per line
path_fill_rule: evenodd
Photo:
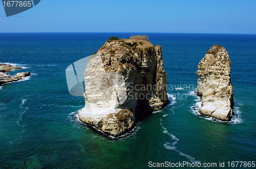
<path fill-rule="evenodd" d="M 230 82 L 229 55 L 220 45 L 211 46 L 198 65 L 198 96 L 202 97 L 201 115 L 230 121 L 234 103 Z"/>

